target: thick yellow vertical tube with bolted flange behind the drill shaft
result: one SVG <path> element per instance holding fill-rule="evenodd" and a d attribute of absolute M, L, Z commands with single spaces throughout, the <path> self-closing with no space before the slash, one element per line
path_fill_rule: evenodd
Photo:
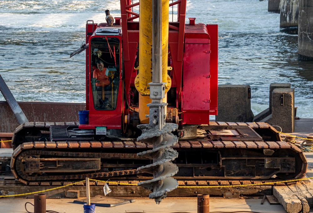
<path fill-rule="evenodd" d="M 169 0 L 162 0 L 162 82 L 165 82 L 165 94 L 171 87 L 171 78 L 167 75 L 168 53 L 168 14 Z M 150 100 L 150 82 L 152 82 L 152 0 L 140 0 L 139 18 L 139 74 L 135 79 L 136 89 L 139 92 L 139 120 L 140 123 L 149 123 L 148 103 Z M 167 102 L 167 96 L 163 99 Z"/>

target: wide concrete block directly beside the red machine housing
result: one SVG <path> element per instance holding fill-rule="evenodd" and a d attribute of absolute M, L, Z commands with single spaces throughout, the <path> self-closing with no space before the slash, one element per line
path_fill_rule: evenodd
<path fill-rule="evenodd" d="M 250 85 L 218 85 L 218 115 L 215 121 L 252 122 Z"/>

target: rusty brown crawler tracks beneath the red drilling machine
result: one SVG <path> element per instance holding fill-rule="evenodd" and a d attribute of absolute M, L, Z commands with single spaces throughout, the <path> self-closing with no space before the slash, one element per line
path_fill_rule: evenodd
<path fill-rule="evenodd" d="M 21 137 L 20 132 L 35 130 L 33 132 L 36 134 L 41 131 L 43 135 L 44 131 L 49 131 L 52 125 L 32 124 L 20 126 L 13 136 L 15 137 L 13 143 L 18 146 L 13 153 L 11 170 L 15 178 L 26 185 L 62 186 L 86 177 L 127 183 L 151 179 L 151 176 L 136 169 L 151 162 L 149 159 L 136 155 L 138 152 L 151 149 L 150 144 L 136 141 L 34 141 L 18 144 L 16 139 Z M 62 124 L 67 126 L 75 123 Z M 238 126 L 237 123 L 213 124 L 213 126 Z M 243 125 L 243 123 L 239 124 Z M 265 123 L 245 125 L 259 130 L 272 128 Z M 259 133 L 261 134 L 262 131 Z M 28 139 L 32 137 L 35 136 L 29 135 Z M 305 176 L 307 168 L 307 162 L 301 150 L 284 141 L 213 141 L 204 136 L 192 140 L 181 139 L 172 148 L 179 153 L 178 158 L 173 161 L 179 167 L 178 173 L 174 176 L 179 186 L 266 184 L 286 179 L 300 179 Z M 57 172 L 49 172 L 45 170 L 51 167 L 45 166 L 47 161 L 65 162 L 67 160 L 73 164 L 83 162 L 80 165 L 87 165 L 82 166 L 86 171 L 68 172 L 65 169 L 64 172 L 57 170 L 55 170 Z M 91 164 L 87 164 L 85 160 L 90 160 Z M 290 163 L 295 165 L 289 165 Z M 243 164 L 246 165 L 243 166 Z M 63 168 L 62 163 L 58 166 Z M 277 166 L 280 166 L 280 169 L 276 168 Z M 295 182 L 286 184 L 292 183 Z"/>

